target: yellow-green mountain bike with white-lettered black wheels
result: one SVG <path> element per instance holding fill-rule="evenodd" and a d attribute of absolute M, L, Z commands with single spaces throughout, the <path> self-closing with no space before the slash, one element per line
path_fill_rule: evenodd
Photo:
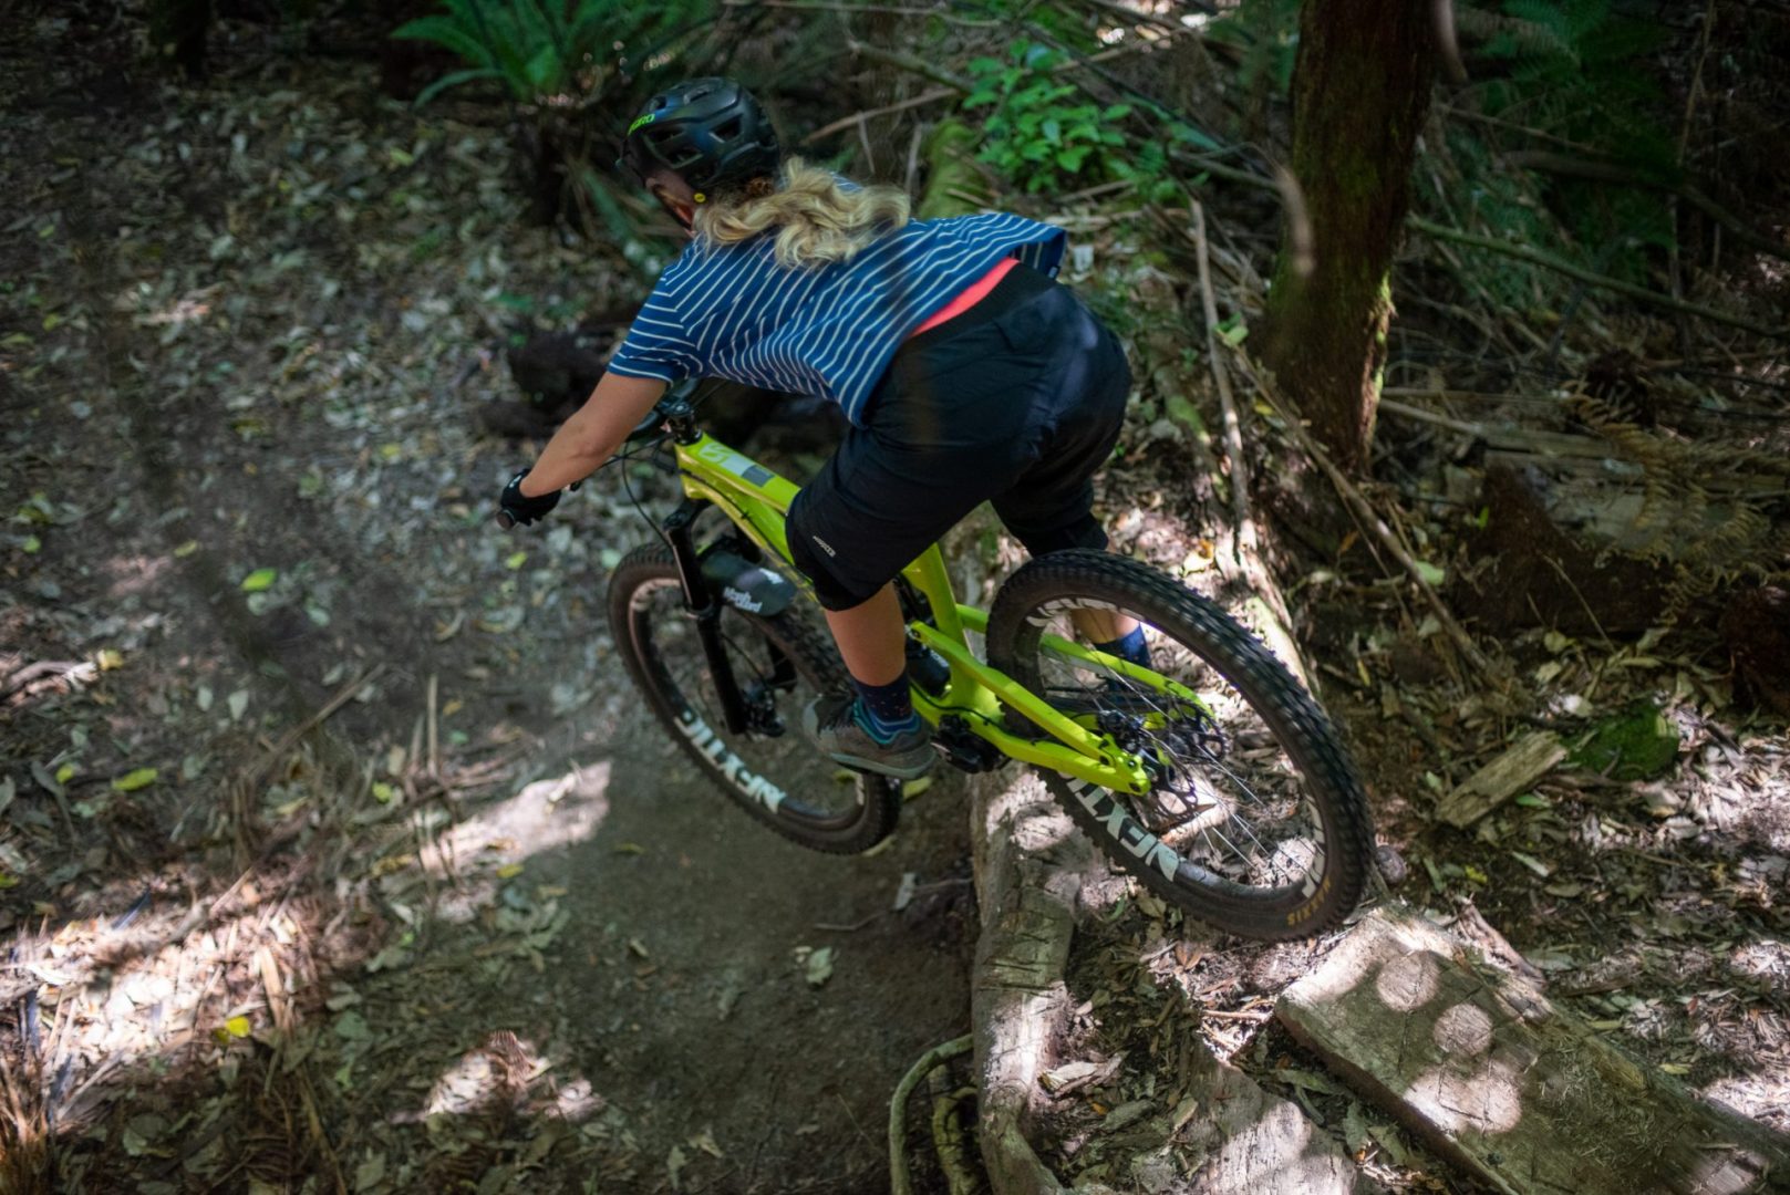
<path fill-rule="evenodd" d="M 661 542 L 614 567 L 609 623 L 646 705 L 745 812 L 822 852 L 895 828 L 899 780 L 845 771 L 798 730 L 848 674 L 802 601 L 784 517 L 797 487 L 696 422 L 673 386 L 628 436 L 675 469 Z M 1215 605 L 1137 560 L 1063 551 L 1022 565 L 992 608 L 956 599 L 938 546 L 897 581 L 915 710 L 965 771 L 1038 769 L 1076 825 L 1169 902 L 1242 937 L 1335 925 L 1360 900 L 1368 800 L 1330 721 Z M 1076 642 L 1076 610 L 1140 621 L 1151 667 Z M 986 658 L 972 649 L 979 637 Z"/>

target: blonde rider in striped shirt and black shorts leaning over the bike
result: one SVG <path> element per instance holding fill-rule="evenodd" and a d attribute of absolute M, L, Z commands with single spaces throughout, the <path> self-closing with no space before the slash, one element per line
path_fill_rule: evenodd
<path fill-rule="evenodd" d="M 1004 213 L 911 220 L 895 188 L 784 157 L 734 81 L 655 95 L 621 161 L 691 243 L 501 504 L 517 522 L 546 515 L 684 377 L 838 403 L 852 428 L 788 531 L 856 692 L 809 705 L 804 728 L 841 764 L 920 776 L 934 753 L 891 581 L 983 501 L 1035 556 L 1104 547 L 1090 478 L 1124 417 L 1124 351 L 1053 281 L 1060 229 Z M 1097 648 L 1147 664 L 1133 619 L 1074 619 Z"/>

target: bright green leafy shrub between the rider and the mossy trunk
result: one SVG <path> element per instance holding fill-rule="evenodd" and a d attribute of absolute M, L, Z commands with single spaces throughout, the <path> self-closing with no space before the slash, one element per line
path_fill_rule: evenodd
<path fill-rule="evenodd" d="M 992 109 L 983 118 L 977 159 L 988 163 L 1031 195 L 1101 182 L 1128 181 L 1144 199 L 1180 195 L 1169 175 L 1169 145 L 1214 148 L 1214 143 L 1155 109 L 1162 134 L 1133 138 L 1124 120 L 1133 104 L 1095 104 L 1058 73 L 1069 55 L 1036 41 L 1015 41 L 1008 61 L 979 57 L 970 63 L 976 84 L 963 100 L 965 111 Z"/>

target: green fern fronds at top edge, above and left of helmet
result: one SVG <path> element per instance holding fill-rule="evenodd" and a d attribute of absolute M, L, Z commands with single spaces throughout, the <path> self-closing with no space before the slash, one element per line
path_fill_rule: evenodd
<path fill-rule="evenodd" d="M 433 41 L 469 66 L 437 79 L 417 104 L 462 82 L 494 79 L 517 100 L 585 98 L 591 77 L 621 50 L 650 48 L 712 9 L 709 0 L 442 0 L 394 38 Z"/>

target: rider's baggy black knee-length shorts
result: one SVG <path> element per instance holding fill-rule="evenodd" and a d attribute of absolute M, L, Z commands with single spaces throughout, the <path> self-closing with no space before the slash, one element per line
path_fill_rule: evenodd
<path fill-rule="evenodd" d="M 1124 351 L 1069 288 L 1008 270 L 895 352 L 868 424 L 789 508 L 795 565 L 848 610 L 984 501 L 1033 556 L 1104 547 L 1092 478 L 1129 390 Z"/>

